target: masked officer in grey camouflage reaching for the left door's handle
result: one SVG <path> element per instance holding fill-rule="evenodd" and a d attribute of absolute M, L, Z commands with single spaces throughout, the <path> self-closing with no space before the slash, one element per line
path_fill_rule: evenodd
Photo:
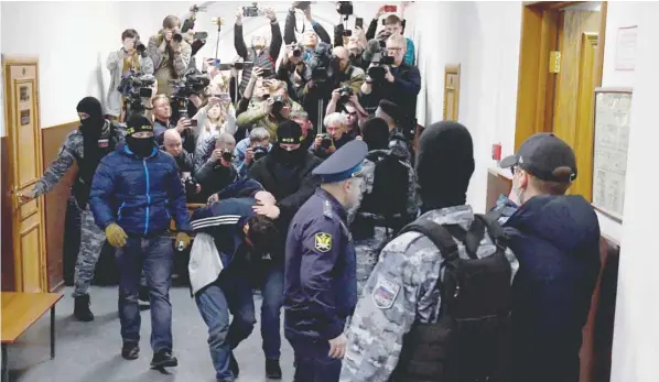
<path fill-rule="evenodd" d="M 115 151 L 115 146 L 123 141 L 125 129 L 104 118 L 100 101 L 94 97 L 83 98 L 77 106 L 77 111 L 80 118 L 79 128 L 66 137 L 57 159 L 34 184 L 34 187 L 29 193 L 20 195 L 20 198 L 26 203 L 50 193 L 73 163 L 77 163 L 78 174 L 72 187 L 72 194 L 80 214 L 82 234 L 74 276 L 74 316 L 82 321 L 91 321 L 94 314 L 89 309 L 87 292 L 94 277 L 96 262 L 106 241 L 106 234 L 94 222 L 94 215 L 88 205 L 89 192 L 96 167 L 105 155 Z"/>

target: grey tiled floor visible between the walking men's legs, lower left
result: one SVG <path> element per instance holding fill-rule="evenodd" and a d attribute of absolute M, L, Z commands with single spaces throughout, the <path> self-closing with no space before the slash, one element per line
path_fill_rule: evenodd
<path fill-rule="evenodd" d="M 56 307 L 56 357 L 50 359 L 50 315 L 42 317 L 19 343 L 9 347 L 10 382 L 212 382 L 215 371 L 208 353 L 207 328 L 198 314 L 187 287 L 174 287 L 173 306 L 174 356 L 179 367 L 162 374 L 150 370 L 151 349 L 149 310 L 142 312 L 140 359 L 126 361 L 119 354 L 121 337 L 117 315 L 117 287 L 93 287 L 93 323 L 79 323 L 72 316 L 71 288 Z M 257 320 L 260 320 L 260 297 L 255 296 Z M 282 315 L 283 318 L 283 315 Z M 267 381 L 261 350 L 260 327 L 236 350 L 240 363 L 240 382 Z M 281 367 L 283 381 L 293 379 L 292 349 L 282 335 Z"/>

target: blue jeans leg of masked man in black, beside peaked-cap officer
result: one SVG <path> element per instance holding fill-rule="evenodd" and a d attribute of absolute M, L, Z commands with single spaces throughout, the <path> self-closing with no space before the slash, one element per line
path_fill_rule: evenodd
<path fill-rule="evenodd" d="M 283 306 L 283 265 L 268 270 L 261 287 L 261 337 L 267 359 L 277 360 L 281 349 L 281 307 Z"/>

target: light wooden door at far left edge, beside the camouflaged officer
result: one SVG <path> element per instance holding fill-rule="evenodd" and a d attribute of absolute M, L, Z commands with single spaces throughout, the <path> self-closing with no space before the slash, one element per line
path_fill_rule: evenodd
<path fill-rule="evenodd" d="M 2 57 L 4 119 L 12 192 L 14 281 L 18 292 L 48 292 L 44 241 L 44 199 L 18 198 L 43 174 L 39 116 L 39 59 Z"/>

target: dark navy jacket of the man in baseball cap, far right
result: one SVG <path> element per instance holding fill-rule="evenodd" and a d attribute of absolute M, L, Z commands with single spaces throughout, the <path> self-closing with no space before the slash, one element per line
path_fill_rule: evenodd
<path fill-rule="evenodd" d="M 499 205 L 500 206 L 500 205 Z M 599 223 L 581 196 L 536 196 L 504 228 L 520 263 L 514 287 L 514 381 L 577 382 L 582 329 L 599 274 Z"/>

